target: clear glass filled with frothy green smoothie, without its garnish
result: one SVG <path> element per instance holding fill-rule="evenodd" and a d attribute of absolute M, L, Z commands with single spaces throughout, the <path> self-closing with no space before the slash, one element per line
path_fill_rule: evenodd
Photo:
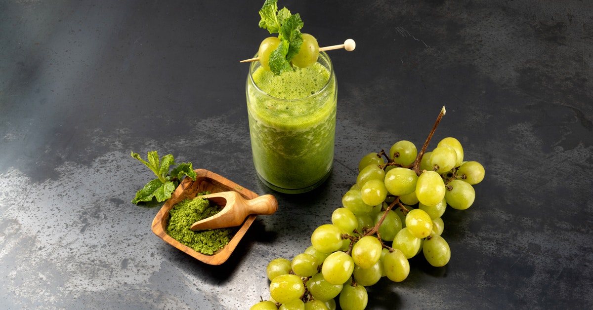
<path fill-rule="evenodd" d="M 257 175 L 281 193 L 304 193 L 329 177 L 337 84 L 327 53 L 307 68 L 274 75 L 252 62 L 247 111 Z"/>

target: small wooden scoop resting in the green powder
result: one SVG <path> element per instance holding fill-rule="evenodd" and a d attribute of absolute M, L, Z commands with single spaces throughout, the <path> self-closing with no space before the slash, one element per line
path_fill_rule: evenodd
<path fill-rule="evenodd" d="M 222 191 L 199 197 L 208 198 L 223 206 L 223 209 L 209 218 L 193 223 L 190 227 L 192 231 L 239 226 L 248 215 L 270 215 L 278 210 L 276 197 L 270 194 L 251 200 L 244 199 L 237 191 Z"/>

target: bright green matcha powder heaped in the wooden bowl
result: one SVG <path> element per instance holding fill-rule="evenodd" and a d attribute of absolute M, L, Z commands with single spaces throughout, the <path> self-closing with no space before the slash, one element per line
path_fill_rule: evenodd
<path fill-rule="evenodd" d="M 208 199 L 200 196 L 194 199 L 185 199 L 173 206 L 169 211 L 167 234 L 171 238 L 193 248 L 205 255 L 212 255 L 231 241 L 234 229 L 219 228 L 208 231 L 192 231 L 190 227 L 198 220 L 215 215 L 220 209 Z"/>

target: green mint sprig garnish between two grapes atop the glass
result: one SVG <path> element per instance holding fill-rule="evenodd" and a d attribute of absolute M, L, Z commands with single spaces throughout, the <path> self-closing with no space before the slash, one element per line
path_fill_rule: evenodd
<path fill-rule="evenodd" d="M 275 75 L 292 71 L 291 59 L 298 54 L 302 44 L 301 28 L 303 26 L 301 15 L 291 14 L 287 8 L 278 11 L 278 0 L 266 0 L 259 14 L 262 19 L 259 27 L 269 33 L 278 33 L 280 44 L 270 54 L 270 69 Z"/>

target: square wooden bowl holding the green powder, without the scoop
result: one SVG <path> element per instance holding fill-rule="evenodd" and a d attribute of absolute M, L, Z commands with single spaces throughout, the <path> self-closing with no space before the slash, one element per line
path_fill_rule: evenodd
<path fill-rule="evenodd" d="M 167 221 L 169 218 L 169 210 L 173 206 L 184 199 L 193 199 L 197 193 L 203 193 L 204 191 L 210 191 L 211 193 L 219 193 L 221 191 L 237 191 L 246 199 L 254 199 L 258 195 L 253 191 L 248 190 L 238 184 L 222 177 L 221 175 L 215 174 L 212 171 L 204 169 L 196 169 L 196 180 L 192 181 L 190 178 L 184 178 L 183 181 L 177 186 L 176 190 L 171 195 L 165 204 L 161 207 L 161 210 L 157 213 L 157 216 L 152 220 L 152 232 L 159 238 L 163 239 L 173 247 L 189 254 L 197 260 L 203 261 L 206 264 L 219 265 L 227 261 L 231 256 L 232 251 L 235 250 L 237 244 L 243 238 L 251 223 L 256 219 L 256 215 L 249 215 L 241 225 L 241 228 L 231 238 L 229 244 L 225 245 L 221 250 L 216 251 L 213 255 L 204 255 L 202 253 L 187 247 L 181 242 L 173 239 L 170 235 L 165 232 L 167 229 Z"/>

